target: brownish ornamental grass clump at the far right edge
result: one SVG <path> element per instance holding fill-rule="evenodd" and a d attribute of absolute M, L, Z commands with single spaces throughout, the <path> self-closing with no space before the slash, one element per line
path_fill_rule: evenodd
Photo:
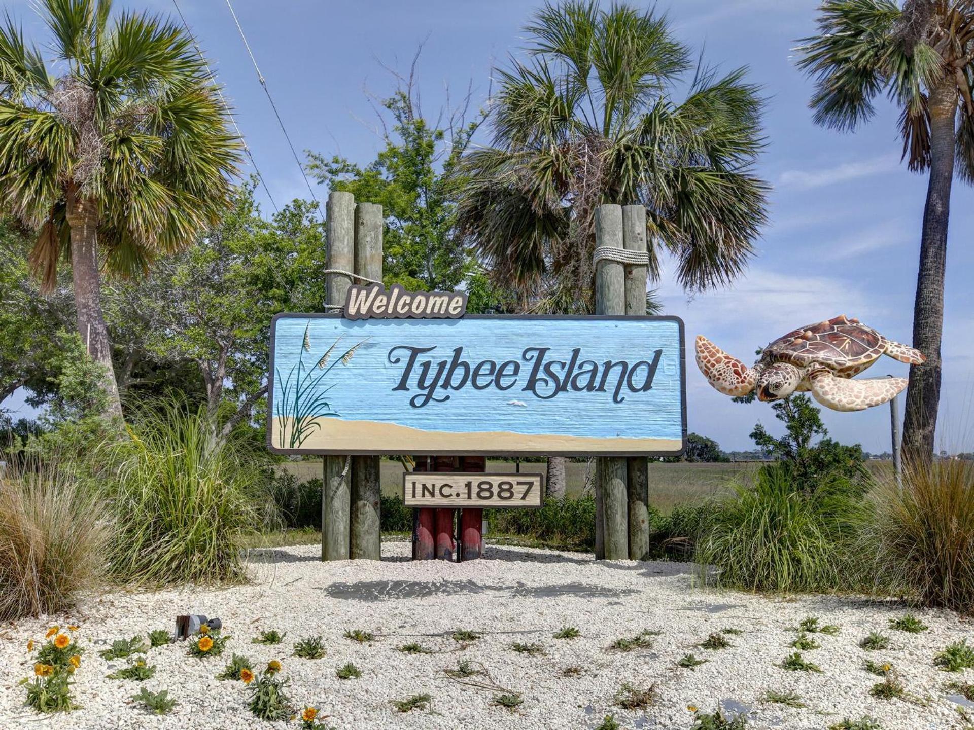
<path fill-rule="evenodd" d="M 974 463 L 935 461 L 903 471 L 903 489 L 877 493 L 881 582 L 925 606 L 974 613 Z"/>

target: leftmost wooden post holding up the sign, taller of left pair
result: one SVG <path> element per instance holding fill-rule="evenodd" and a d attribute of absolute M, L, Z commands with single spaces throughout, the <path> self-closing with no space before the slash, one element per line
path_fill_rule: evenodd
<path fill-rule="evenodd" d="M 328 269 L 355 271 L 356 198 L 351 193 L 334 191 L 328 195 L 326 243 Z M 327 304 L 345 304 L 352 277 L 327 274 Z M 347 456 L 325 456 L 321 480 L 321 560 L 348 560 L 351 464 Z"/>

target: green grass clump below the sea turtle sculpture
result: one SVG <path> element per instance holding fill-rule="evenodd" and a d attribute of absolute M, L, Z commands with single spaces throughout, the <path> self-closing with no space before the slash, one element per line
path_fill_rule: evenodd
<path fill-rule="evenodd" d="M 839 477 L 807 493 L 789 469 L 762 468 L 751 486 L 735 484 L 731 497 L 716 503 L 696 560 L 720 568 L 716 584 L 752 591 L 834 591 L 859 584 L 849 556 L 868 510 L 856 493 Z"/>

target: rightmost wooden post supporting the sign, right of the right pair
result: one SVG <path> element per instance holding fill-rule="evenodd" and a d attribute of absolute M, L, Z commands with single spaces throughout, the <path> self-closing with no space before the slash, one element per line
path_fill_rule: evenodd
<path fill-rule="evenodd" d="M 622 208 L 625 250 L 646 253 L 646 207 Z M 646 314 L 647 267 L 625 264 L 625 313 Z M 646 456 L 626 458 L 626 494 L 629 518 L 629 560 L 644 561 L 650 553 L 649 471 Z"/>

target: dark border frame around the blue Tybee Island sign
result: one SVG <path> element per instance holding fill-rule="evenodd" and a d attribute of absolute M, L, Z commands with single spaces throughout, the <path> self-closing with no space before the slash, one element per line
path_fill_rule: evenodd
<path fill-rule="evenodd" d="M 393 451 L 374 451 L 374 450 L 361 450 L 361 449 L 343 449 L 343 450 L 331 450 L 331 449 L 281 449 L 276 447 L 271 440 L 271 423 L 274 420 L 273 403 L 271 399 L 271 394 L 274 392 L 274 373 L 275 373 L 275 334 L 277 332 L 277 323 L 279 319 L 285 317 L 303 317 L 305 319 L 342 319 L 344 315 L 342 312 L 294 312 L 294 311 L 284 311 L 279 314 L 275 314 L 271 319 L 271 351 L 269 357 L 269 370 L 267 375 L 267 448 L 274 454 L 283 455 L 296 455 L 296 454 L 309 454 L 313 456 L 394 456 L 398 452 Z M 578 451 L 540 451 L 540 452 L 516 452 L 517 456 L 681 456 L 687 450 L 687 343 L 686 343 L 686 328 L 683 323 L 683 319 L 676 316 L 675 314 L 644 314 L 644 315 L 630 315 L 630 314 L 465 314 L 464 319 L 542 319 L 542 320 L 575 320 L 575 319 L 596 319 L 604 321 L 632 321 L 632 320 L 644 320 L 644 321 L 668 321 L 676 322 L 679 331 L 680 338 L 680 420 L 681 423 L 681 440 L 682 444 L 680 450 L 677 452 L 578 452 Z M 356 321 L 356 320 L 349 320 Z M 403 320 L 408 321 L 408 320 Z M 416 321 L 430 321 L 426 320 L 416 320 Z M 454 322 L 456 319 L 444 319 L 446 322 Z M 443 449 L 410 449 L 410 454 L 415 454 L 416 456 L 509 456 L 511 452 L 509 451 L 498 451 L 496 449 L 462 449 L 462 450 L 443 450 Z"/>

